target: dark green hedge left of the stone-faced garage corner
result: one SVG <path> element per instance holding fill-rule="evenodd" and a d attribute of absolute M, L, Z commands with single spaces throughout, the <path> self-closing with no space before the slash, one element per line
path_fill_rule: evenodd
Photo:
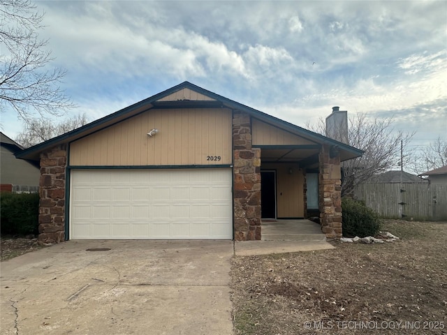
<path fill-rule="evenodd" d="M 1 193 L 1 234 L 38 234 L 38 193 Z"/>

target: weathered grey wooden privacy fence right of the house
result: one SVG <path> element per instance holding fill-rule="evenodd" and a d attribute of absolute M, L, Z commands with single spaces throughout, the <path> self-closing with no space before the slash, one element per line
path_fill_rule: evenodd
<path fill-rule="evenodd" d="M 447 221 L 447 185 L 360 184 L 354 198 L 384 218 Z"/>

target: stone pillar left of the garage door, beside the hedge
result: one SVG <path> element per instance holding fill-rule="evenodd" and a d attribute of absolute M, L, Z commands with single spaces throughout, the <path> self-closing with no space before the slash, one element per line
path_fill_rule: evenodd
<path fill-rule="evenodd" d="M 38 239 L 45 243 L 65 240 L 66 163 L 65 144 L 41 154 Z"/>

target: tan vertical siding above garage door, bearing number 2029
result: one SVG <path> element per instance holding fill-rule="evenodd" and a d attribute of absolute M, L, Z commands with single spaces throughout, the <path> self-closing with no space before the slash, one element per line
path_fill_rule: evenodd
<path fill-rule="evenodd" d="M 72 142 L 70 165 L 231 164 L 231 119 L 228 109 L 149 110 Z"/>

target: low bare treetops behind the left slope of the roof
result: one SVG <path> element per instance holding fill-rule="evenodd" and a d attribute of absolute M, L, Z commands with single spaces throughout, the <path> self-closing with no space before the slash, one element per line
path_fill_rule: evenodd
<path fill-rule="evenodd" d="M 85 114 L 76 115 L 75 117 L 61 121 L 59 124 L 52 124 L 50 121 L 42 118 L 29 119 L 24 124 L 22 132 L 15 138 L 15 142 L 25 148 L 32 147 L 33 145 L 50 140 L 52 137 L 73 131 L 73 129 L 84 126 L 87 123 L 88 120 Z"/>

